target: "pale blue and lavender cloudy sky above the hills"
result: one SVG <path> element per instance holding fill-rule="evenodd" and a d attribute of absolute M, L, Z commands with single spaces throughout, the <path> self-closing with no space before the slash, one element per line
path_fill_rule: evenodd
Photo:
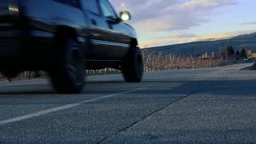
<path fill-rule="evenodd" d="M 256 0 L 110 0 L 128 22 L 139 46 L 166 46 L 256 32 Z"/>

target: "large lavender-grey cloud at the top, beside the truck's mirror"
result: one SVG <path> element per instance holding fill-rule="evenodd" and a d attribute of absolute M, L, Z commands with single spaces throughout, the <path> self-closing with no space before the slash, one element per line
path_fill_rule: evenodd
<path fill-rule="evenodd" d="M 134 15 L 133 25 L 141 33 L 188 30 L 209 22 L 220 6 L 234 5 L 237 0 L 110 0 L 118 10 Z"/>

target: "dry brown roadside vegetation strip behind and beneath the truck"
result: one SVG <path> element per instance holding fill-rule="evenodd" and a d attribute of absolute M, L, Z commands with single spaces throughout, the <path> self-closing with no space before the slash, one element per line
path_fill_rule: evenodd
<path fill-rule="evenodd" d="M 234 58 L 193 58 L 193 57 L 182 57 L 163 55 L 161 53 L 148 53 L 143 51 L 144 71 L 157 71 L 157 70 L 181 70 L 181 69 L 198 69 L 215 66 L 225 66 L 235 62 Z M 118 74 L 120 70 L 114 70 L 106 68 L 103 70 L 87 70 L 88 75 L 100 75 L 100 74 Z M 40 71 L 41 76 L 46 76 L 46 72 Z M 36 74 L 34 72 L 24 72 L 18 75 L 17 79 L 22 78 L 34 78 Z M 0 75 L 2 78 L 2 75 Z"/>

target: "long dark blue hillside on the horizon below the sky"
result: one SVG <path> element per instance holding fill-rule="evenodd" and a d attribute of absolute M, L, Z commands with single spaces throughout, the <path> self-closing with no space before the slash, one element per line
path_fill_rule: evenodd
<path fill-rule="evenodd" d="M 157 51 L 162 54 L 181 54 L 198 56 L 208 52 L 219 54 L 226 46 L 232 45 L 234 50 L 242 50 L 243 47 L 256 52 L 256 33 L 243 34 L 233 38 L 224 38 L 219 40 L 209 39 L 201 42 L 189 42 L 170 46 L 157 46 L 145 49 L 146 51 Z"/>

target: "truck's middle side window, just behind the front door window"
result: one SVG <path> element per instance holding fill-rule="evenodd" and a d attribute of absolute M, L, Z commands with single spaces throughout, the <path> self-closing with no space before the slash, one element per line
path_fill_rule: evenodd
<path fill-rule="evenodd" d="M 83 0 L 82 2 L 82 7 L 85 10 L 89 10 L 90 12 L 93 12 L 94 14 L 100 14 L 99 9 L 98 9 L 98 0 Z"/>

